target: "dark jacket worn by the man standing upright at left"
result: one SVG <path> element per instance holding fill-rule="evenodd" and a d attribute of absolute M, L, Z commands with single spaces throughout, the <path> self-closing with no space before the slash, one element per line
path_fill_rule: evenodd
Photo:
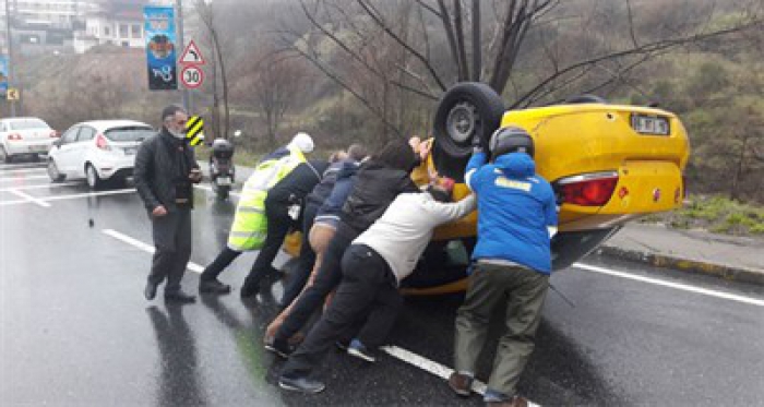
<path fill-rule="evenodd" d="M 193 148 L 177 140 L 165 128 L 143 143 L 135 156 L 135 188 L 151 213 L 159 205 L 168 212 L 175 204 L 175 181 L 188 179 L 192 168 L 199 168 Z M 193 193 L 191 195 L 193 206 Z"/>

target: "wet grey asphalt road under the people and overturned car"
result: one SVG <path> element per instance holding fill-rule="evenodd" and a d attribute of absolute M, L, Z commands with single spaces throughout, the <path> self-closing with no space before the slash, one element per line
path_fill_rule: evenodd
<path fill-rule="evenodd" d="M 87 196 L 50 187 L 39 165 L 0 165 L 0 405 L 481 405 L 443 380 L 382 356 L 373 366 L 332 352 L 315 396 L 280 391 L 282 362 L 261 344 L 282 284 L 255 301 L 238 292 L 168 307 L 142 290 L 151 244 L 130 191 Z M 77 195 L 72 197 L 72 195 Z M 234 204 L 199 190 L 191 261 L 224 247 Z M 93 227 L 88 220 L 93 219 Z M 254 259 L 222 279 L 240 287 Z M 756 303 L 570 268 L 557 273 L 521 391 L 542 405 L 764 405 L 764 292 L 760 287 L 589 258 L 630 275 L 756 299 Z M 184 288 L 195 291 L 198 274 Z M 275 298 L 275 299 L 274 299 Z M 461 298 L 409 298 L 392 343 L 452 366 Z M 493 327 L 493 336 L 500 326 Z M 486 379 L 491 352 L 478 372 Z"/>

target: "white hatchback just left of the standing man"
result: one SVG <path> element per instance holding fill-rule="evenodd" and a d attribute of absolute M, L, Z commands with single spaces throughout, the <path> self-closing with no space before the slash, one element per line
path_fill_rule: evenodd
<path fill-rule="evenodd" d="M 153 134 L 151 125 L 132 120 L 74 124 L 50 148 L 48 176 L 53 182 L 85 179 L 91 189 L 122 181 L 133 175 L 139 145 Z"/>

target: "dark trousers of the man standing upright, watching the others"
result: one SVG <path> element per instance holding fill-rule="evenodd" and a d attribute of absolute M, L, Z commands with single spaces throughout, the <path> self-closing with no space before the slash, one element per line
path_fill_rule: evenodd
<path fill-rule="evenodd" d="M 148 282 L 160 284 L 167 279 L 165 292 L 178 291 L 191 258 L 191 211 L 176 210 L 151 219 L 156 251 Z"/>

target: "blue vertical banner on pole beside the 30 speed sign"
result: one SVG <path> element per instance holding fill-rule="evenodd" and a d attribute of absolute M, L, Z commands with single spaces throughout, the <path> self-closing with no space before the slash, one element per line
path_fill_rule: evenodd
<path fill-rule="evenodd" d="M 146 33 L 146 62 L 151 91 L 178 89 L 176 64 L 175 10 L 171 7 L 143 8 Z"/>

